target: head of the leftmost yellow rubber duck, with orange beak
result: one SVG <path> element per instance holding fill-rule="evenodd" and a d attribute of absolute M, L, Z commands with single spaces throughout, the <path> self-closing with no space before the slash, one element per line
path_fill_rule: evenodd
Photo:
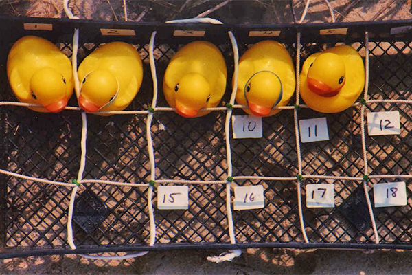
<path fill-rule="evenodd" d="M 66 96 L 66 79 L 52 67 L 38 69 L 30 78 L 30 95 L 36 103 L 47 111 L 58 113 L 65 109 L 69 98 Z"/>

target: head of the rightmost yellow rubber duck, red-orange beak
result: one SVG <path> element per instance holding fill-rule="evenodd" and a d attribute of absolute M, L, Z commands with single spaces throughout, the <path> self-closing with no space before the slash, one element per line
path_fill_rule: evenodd
<path fill-rule="evenodd" d="M 345 84 L 345 63 L 332 52 L 320 54 L 308 69 L 308 87 L 319 96 L 331 97 Z"/>

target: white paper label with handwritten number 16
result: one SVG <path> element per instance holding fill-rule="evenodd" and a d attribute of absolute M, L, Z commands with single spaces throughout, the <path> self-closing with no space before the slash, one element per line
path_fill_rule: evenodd
<path fill-rule="evenodd" d="M 263 186 L 235 186 L 234 210 L 264 208 Z"/>

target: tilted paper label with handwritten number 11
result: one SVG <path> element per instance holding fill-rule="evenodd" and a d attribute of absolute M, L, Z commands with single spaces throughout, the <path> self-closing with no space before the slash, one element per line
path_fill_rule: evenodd
<path fill-rule="evenodd" d="M 326 118 L 299 120 L 299 132 L 301 134 L 301 142 L 303 143 L 329 140 Z"/>

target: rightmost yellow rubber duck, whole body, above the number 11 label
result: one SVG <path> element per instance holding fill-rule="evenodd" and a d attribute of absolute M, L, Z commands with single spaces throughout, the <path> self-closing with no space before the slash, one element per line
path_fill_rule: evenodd
<path fill-rule="evenodd" d="M 348 45 L 312 54 L 302 66 L 301 97 L 321 113 L 338 113 L 351 107 L 364 86 L 362 57 Z"/>

